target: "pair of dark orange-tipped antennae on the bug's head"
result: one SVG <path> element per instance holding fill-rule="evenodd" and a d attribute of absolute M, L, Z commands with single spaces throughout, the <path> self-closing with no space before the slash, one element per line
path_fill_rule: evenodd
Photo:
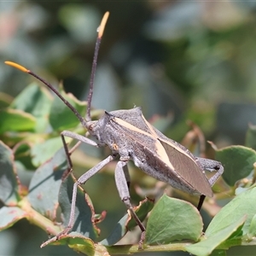
<path fill-rule="evenodd" d="M 106 22 L 108 20 L 108 15 L 109 15 L 109 13 L 107 12 L 103 16 L 101 25 L 98 28 L 98 37 L 97 37 L 97 40 L 96 40 L 95 54 L 94 54 L 94 58 L 93 58 L 91 75 L 90 75 L 90 89 L 89 89 L 89 95 L 88 95 L 88 98 L 87 98 L 87 113 L 86 113 L 85 119 L 80 115 L 80 113 L 78 112 L 78 110 L 76 108 L 74 108 L 63 96 L 61 96 L 61 94 L 60 94 L 60 92 L 58 92 L 58 90 L 55 90 L 53 85 L 49 84 L 49 82 L 47 82 L 46 80 L 39 77 L 36 73 L 33 73 L 31 70 L 27 69 L 26 67 L 23 67 L 20 64 L 17 64 L 17 63 L 12 62 L 12 61 L 4 61 L 4 63 L 11 66 L 11 67 L 15 67 L 17 69 L 20 69 L 20 71 L 22 71 L 22 72 L 25 72 L 25 73 L 28 73 L 28 74 L 32 75 L 34 78 L 38 79 L 43 84 L 45 84 L 50 90 L 52 90 L 55 93 L 56 96 L 58 96 L 61 99 L 62 102 L 64 102 L 66 104 L 66 106 L 68 108 L 70 108 L 73 111 L 73 113 L 79 119 L 80 123 L 85 126 L 86 123 L 91 120 L 91 118 L 90 118 L 90 105 L 91 105 L 91 99 L 92 99 L 92 93 L 93 93 L 93 83 L 94 83 L 94 78 L 95 78 L 95 73 L 96 73 L 97 55 L 98 55 L 100 44 L 101 44 L 101 41 L 102 41 L 102 35 L 103 35 L 103 32 L 104 32 L 104 28 L 105 28 Z"/>

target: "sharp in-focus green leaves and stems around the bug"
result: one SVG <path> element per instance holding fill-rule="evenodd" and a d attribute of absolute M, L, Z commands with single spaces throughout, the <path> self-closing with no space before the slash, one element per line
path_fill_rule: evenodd
<path fill-rule="evenodd" d="M 84 113 L 86 102 L 79 102 L 74 96 L 66 95 L 63 90 L 61 93 L 80 113 Z M 3 202 L 0 210 L 1 230 L 8 229 L 21 218 L 26 218 L 54 236 L 67 225 L 73 178 L 70 175 L 66 177 L 67 160 L 59 132 L 66 128 L 81 134 L 84 131 L 78 121 L 72 116 L 69 118 L 71 111 L 60 108 L 56 101 L 59 102 L 56 97 L 53 99 L 49 96 L 44 87 L 30 84 L 8 108 L 1 110 L 2 125 L 8 127 L 0 135 L 3 141 L 0 144 L 0 198 Z M 42 108 L 44 104 L 49 108 Z M 56 113 L 67 118 L 59 123 Z M 53 114 L 55 119 L 51 118 Z M 19 125 L 13 125 L 17 119 Z M 84 158 L 86 159 L 86 154 Z M 230 185 L 230 189 L 219 182 L 216 187 L 221 192 L 216 193 L 213 200 L 206 202 L 205 209 L 211 214 L 212 206 L 217 207 L 218 198 L 234 199 L 212 218 L 205 233 L 202 233 L 200 213 L 189 202 L 162 195 L 153 207 L 152 200 L 144 199 L 135 208 L 142 220 L 152 210 L 148 217 L 143 251 L 182 250 L 201 256 L 210 255 L 216 249 L 224 251 L 237 245 L 256 244 L 256 207 L 253 200 L 256 197 L 256 187 L 253 185 L 256 152 L 253 148 L 231 146 L 217 149 L 216 158 L 224 164 L 224 180 Z M 20 182 L 19 170 L 30 172 L 29 169 L 33 166 L 37 170 L 33 172 L 26 187 Z M 233 195 L 235 190 L 237 195 Z M 61 208 L 61 224 L 57 224 L 60 220 L 58 206 Z M 129 213 L 119 220 L 106 239 L 97 241 L 100 234 L 97 224 L 104 218 L 105 212 L 96 213 L 90 196 L 80 188 L 73 231 L 51 243 L 67 245 L 87 255 L 137 252 L 137 244 L 129 247 L 114 245 L 136 226 Z"/>

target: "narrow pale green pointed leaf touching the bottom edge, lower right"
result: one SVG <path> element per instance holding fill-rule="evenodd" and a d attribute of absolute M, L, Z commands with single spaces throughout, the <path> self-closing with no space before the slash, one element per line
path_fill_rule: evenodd
<path fill-rule="evenodd" d="M 228 239 L 237 229 L 241 227 L 246 221 L 246 216 L 238 218 L 234 223 L 227 225 L 224 229 L 218 230 L 214 234 L 207 236 L 206 240 L 197 242 L 193 245 L 186 247 L 189 253 L 193 253 L 197 256 L 207 256 L 218 247 L 223 241 Z"/>

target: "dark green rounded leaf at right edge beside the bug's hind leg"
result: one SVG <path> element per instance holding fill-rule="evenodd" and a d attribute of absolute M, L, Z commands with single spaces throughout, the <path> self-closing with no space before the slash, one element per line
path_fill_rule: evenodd
<path fill-rule="evenodd" d="M 224 181 L 234 186 L 243 177 L 247 177 L 253 171 L 253 163 L 256 162 L 256 152 L 252 148 L 243 146 L 230 146 L 216 151 L 216 160 L 224 166 L 222 177 Z"/>

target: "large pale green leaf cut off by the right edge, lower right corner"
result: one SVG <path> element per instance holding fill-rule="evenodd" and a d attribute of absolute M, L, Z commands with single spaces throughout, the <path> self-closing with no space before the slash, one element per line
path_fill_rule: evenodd
<path fill-rule="evenodd" d="M 237 219 L 247 215 L 247 220 L 242 227 L 243 235 L 248 233 L 253 216 L 256 212 L 256 187 L 251 187 L 237 195 L 230 203 L 225 205 L 212 219 L 206 230 L 206 236 L 212 236 L 218 231 L 224 230 Z"/>

